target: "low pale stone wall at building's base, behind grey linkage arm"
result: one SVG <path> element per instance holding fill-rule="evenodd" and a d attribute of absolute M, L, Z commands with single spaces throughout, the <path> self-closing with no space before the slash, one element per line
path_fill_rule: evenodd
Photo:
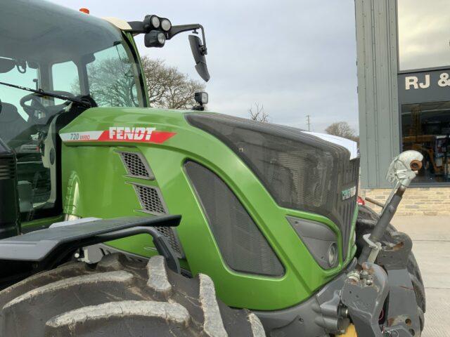
<path fill-rule="evenodd" d="M 385 188 L 362 189 L 361 197 L 370 197 L 385 203 L 391 190 Z M 378 206 L 366 205 L 379 212 Z M 399 216 L 450 216 L 450 187 L 409 187 L 397 210 Z"/>

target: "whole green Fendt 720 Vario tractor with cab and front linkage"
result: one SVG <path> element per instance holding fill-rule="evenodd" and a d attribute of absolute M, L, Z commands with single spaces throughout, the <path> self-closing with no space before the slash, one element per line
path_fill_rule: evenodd
<path fill-rule="evenodd" d="M 85 11 L 86 12 L 86 11 Z M 422 164 L 401 153 L 380 214 L 335 138 L 149 107 L 134 39 L 202 25 L 0 0 L 1 336 L 420 336 L 425 292 L 390 220 Z"/>

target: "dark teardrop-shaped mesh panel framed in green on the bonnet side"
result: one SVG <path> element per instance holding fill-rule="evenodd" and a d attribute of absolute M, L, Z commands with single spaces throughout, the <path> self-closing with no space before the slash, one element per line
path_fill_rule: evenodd
<path fill-rule="evenodd" d="M 224 181 L 193 161 L 185 168 L 227 265 L 239 272 L 283 275 L 283 265 Z"/>

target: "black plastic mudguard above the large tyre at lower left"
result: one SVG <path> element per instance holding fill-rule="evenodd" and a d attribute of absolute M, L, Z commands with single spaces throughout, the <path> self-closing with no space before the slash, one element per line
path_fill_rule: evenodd
<path fill-rule="evenodd" d="M 8 286 L 41 270 L 49 270 L 70 259 L 82 247 L 150 234 L 167 266 L 180 272 L 179 261 L 167 239 L 153 227 L 176 227 L 181 216 L 126 217 L 92 220 L 51 227 L 0 240 L 0 286 Z"/>

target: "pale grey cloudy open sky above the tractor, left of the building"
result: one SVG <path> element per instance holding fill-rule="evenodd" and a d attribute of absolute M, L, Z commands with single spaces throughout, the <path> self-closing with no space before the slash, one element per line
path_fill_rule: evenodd
<path fill-rule="evenodd" d="M 273 123 L 323 132 L 335 121 L 358 128 L 354 0 L 54 0 L 91 15 L 142 20 L 146 14 L 173 25 L 205 27 L 211 79 L 208 110 L 248 117 L 264 105 Z M 188 34 L 141 55 L 161 58 L 199 79 Z"/>

